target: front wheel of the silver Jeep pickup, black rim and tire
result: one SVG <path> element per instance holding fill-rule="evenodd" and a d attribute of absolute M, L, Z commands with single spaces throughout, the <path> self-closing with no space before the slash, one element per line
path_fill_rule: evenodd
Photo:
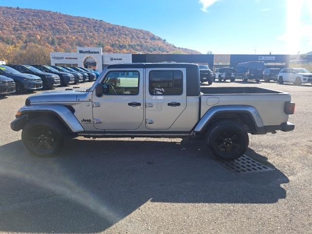
<path fill-rule="evenodd" d="M 65 135 L 65 129 L 59 121 L 49 117 L 39 117 L 25 125 L 21 139 L 31 154 L 50 157 L 62 150 Z"/>

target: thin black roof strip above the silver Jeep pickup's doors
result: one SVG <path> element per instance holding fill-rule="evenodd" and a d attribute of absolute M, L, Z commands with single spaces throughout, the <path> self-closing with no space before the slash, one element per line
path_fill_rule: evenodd
<path fill-rule="evenodd" d="M 155 62 L 155 63 L 124 63 L 124 64 L 112 64 L 107 68 L 188 68 L 196 67 L 194 63 L 182 63 L 182 62 Z"/>

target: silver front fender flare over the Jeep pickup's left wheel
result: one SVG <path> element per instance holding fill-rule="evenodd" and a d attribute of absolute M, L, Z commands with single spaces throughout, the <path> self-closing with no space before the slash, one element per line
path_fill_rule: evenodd
<path fill-rule="evenodd" d="M 83 132 L 84 129 L 79 123 L 74 114 L 66 107 L 62 105 L 31 105 L 23 106 L 19 112 L 22 114 L 27 113 L 52 113 L 59 117 L 59 119 L 67 126 L 73 133 Z"/>

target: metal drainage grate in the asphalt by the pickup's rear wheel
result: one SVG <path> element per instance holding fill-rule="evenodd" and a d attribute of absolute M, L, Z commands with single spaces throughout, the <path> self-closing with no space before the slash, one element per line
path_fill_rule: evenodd
<path fill-rule="evenodd" d="M 218 161 L 236 175 L 246 175 L 258 172 L 273 171 L 274 169 L 263 165 L 253 158 L 243 155 L 233 161 Z"/>

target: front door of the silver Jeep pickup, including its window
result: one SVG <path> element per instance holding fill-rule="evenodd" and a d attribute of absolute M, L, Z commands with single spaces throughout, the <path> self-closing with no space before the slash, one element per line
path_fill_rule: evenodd
<path fill-rule="evenodd" d="M 101 82 L 108 92 L 92 94 L 93 123 L 103 130 L 135 130 L 143 122 L 143 69 L 110 70 Z"/>

